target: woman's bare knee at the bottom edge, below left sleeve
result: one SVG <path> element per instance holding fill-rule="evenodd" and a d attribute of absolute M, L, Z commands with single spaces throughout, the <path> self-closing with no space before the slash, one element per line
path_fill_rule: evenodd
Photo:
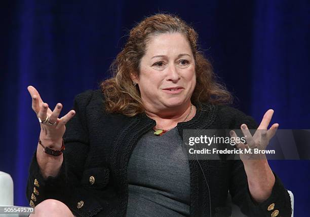
<path fill-rule="evenodd" d="M 39 216 L 68 216 L 73 217 L 72 212 L 66 204 L 59 200 L 47 199 L 37 204 L 34 208 L 34 214 L 31 214 L 32 217 Z"/>

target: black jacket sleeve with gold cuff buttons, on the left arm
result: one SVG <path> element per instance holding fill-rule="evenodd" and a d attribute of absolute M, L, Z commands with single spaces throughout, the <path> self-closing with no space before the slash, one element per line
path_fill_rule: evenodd
<path fill-rule="evenodd" d="M 87 91 L 74 99 L 76 115 L 66 124 L 64 160 L 56 177 L 43 178 L 34 153 L 26 191 L 31 206 L 46 199 L 56 199 L 65 203 L 76 216 L 92 216 L 103 209 L 96 195 L 81 183 L 89 150 L 86 107 L 92 95 L 93 91 Z"/>

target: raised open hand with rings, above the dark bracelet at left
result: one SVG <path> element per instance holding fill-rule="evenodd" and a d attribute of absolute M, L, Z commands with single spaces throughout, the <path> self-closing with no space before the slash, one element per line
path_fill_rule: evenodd
<path fill-rule="evenodd" d="M 66 130 L 65 124 L 75 115 L 75 111 L 69 111 L 65 116 L 59 118 L 62 104 L 57 103 L 54 110 L 44 102 L 33 86 L 28 86 L 28 91 L 32 98 L 32 110 L 35 112 L 41 125 L 40 140 L 53 149 L 60 149 L 62 136 Z"/>

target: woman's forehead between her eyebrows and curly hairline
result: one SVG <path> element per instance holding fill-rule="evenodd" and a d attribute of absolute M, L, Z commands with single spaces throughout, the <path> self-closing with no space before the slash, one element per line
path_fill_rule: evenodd
<path fill-rule="evenodd" d="M 152 36 L 147 45 L 145 56 L 178 55 L 188 53 L 191 55 L 190 45 L 182 33 L 162 33 Z"/>

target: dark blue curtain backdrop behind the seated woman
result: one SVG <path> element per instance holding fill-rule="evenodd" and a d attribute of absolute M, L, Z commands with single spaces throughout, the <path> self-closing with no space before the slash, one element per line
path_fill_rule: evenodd
<path fill-rule="evenodd" d="M 25 196 L 40 126 L 26 87 L 53 106 L 98 88 L 128 30 L 144 16 L 176 13 L 199 32 L 215 72 L 257 122 L 274 108 L 282 129 L 309 129 L 309 1 L 7 1 L 1 7 L 1 159 L 15 204 Z M 295 195 L 296 216 L 310 213 L 310 162 L 270 161 Z"/>

